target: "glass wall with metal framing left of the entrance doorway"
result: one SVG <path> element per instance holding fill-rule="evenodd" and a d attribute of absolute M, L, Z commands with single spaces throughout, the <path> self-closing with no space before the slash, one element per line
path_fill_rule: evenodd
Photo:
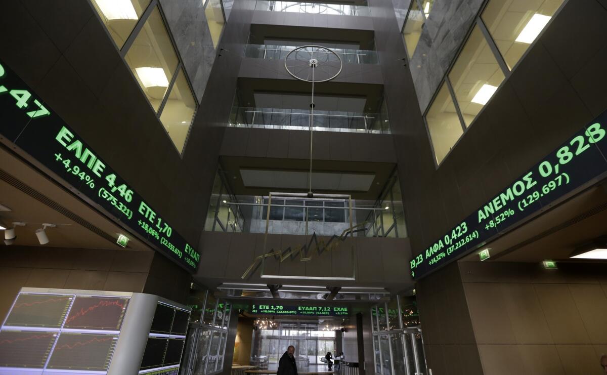
<path fill-rule="evenodd" d="M 180 375 L 219 373 L 223 369 L 232 306 L 216 300 L 210 291 L 198 290 L 192 290 L 188 305 L 192 307 L 192 317 Z"/>

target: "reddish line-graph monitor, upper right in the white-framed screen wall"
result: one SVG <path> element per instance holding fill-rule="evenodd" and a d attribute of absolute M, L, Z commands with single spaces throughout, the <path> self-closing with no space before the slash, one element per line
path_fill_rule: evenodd
<path fill-rule="evenodd" d="M 77 296 L 63 328 L 119 331 L 129 299 Z"/>

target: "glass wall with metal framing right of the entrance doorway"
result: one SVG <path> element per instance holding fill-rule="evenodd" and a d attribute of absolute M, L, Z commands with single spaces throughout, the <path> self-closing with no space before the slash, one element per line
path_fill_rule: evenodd
<path fill-rule="evenodd" d="M 376 374 L 427 374 L 419 319 L 412 319 L 418 317 L 414 301 L 395 296 L 371 308 Z"/>

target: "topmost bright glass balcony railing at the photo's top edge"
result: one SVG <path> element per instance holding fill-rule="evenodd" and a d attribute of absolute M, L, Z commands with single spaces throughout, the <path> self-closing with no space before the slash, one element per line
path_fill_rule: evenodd
<path fill-rule="evenodd" d="M 322 4 L 319 2 L 257 0 L 255 10 L 310 13 L 313 15 L 370 16 L 366 5 Z"/>

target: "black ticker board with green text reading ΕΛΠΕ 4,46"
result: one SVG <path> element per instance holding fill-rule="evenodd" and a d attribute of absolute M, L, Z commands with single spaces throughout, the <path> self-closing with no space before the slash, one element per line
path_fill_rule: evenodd
<path fill-rule="evenodd" d="M 0 133 L 87 198 L 195 272 L 200 254 L 0 61 Z"/>

